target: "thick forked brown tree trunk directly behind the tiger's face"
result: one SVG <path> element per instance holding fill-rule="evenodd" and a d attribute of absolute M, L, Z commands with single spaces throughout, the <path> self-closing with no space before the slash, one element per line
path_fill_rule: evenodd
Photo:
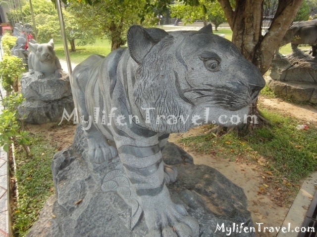
<path fill-rule="evenodd" d="M 218 0 L 233 32 L 232 42 L 262 75 L 269 69 L 274 52 L 283 40 L 302 1 L 279 0 L 272 24 L 265 36 L 262 36 L 263 0 L 236 0 L 234 11 L 229 0 Z M 250 115 L 261 118 L 257 103 L 256 101 L 252 104 Z M 246 131 L 254 124 L 249 121 L 248 124 L 238 126 L 238 129 Z"/>

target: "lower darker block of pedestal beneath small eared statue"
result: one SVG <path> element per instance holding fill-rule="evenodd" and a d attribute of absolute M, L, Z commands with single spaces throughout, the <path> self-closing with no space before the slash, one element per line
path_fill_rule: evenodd
<path fill-rule="evenodd" d="M 64 109 L 71 114 L 74 109 L 73 97 L 53 101 L 25 100 L 18 107 L 19 115 L 27 123 L 42 124 L 60 121 Z"/>

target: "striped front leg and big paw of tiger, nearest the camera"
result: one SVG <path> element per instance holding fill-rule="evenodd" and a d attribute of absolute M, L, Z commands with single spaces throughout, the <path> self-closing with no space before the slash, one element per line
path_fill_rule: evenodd
<path fill-rule="evenodd" d="M 176 174 L 165 172 L 166 169 L 174 170 L 165 166 L 158 138 L 157 135 L 140 143 L 114 137 L 121 162 L 144 211 L 148 237 L 198 237 L 197 220 L 170 199 L 165 180 L 166 176 L 171 179 Z"/>

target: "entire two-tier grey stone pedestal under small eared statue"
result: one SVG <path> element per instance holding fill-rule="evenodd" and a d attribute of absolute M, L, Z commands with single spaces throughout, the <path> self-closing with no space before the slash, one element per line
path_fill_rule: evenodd
<path fill-rule="evenodd" d="M 44 79 L 26 73 L 21 79 L 21 91 L 26 100 L 18 112 L 27 123 L 57 122 L 64 109 L 69 114 L 74 109 L 69 76 L 65 72 L 62 78 L 49 75 Z"/>

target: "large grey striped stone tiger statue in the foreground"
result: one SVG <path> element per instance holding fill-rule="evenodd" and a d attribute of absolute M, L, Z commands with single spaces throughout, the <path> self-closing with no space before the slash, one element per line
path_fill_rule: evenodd
<path fill-rule="evenodd" d="M 248 115 L 264 79 L 229 40 L 211 34 L 211 25 L 169 34 L 134 25 L 127 43 L 90 56 L 72 73 L 88 155 L 97 163 L 119 155 L 149 237 L 198 237 L 198 221 L 170 199 L 166 183 L 177 172 L 161 150 L 169 133 Z"/>

